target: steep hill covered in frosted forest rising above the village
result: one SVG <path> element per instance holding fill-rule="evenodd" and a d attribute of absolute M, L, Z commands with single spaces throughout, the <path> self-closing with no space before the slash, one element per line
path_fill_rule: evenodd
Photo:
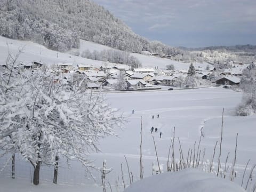
<path fill-rule="evenodd" d="M 180 50 L 149 42 L 102 6 L 89 0 L 0 1 L 0 35 L 31 40 L 52 50 L 79 47 L 79 39 L 139 53 L 178 54 Z"/>

